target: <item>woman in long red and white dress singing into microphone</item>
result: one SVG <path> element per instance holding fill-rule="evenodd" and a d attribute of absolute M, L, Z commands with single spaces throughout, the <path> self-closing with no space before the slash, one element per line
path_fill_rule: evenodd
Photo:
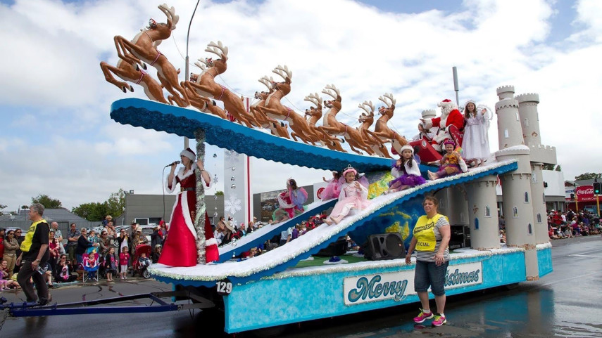
<path fill-rule="evenodd" d="M 190 149 L 180 152 L 184 167 L 175 174 L 177 164 L 171 166 L 171 171 L 166 182 L 168 192 L 173 192 L 177 183 L 180 183 L 180 192 L 177 194 L 173 212 L 171 213 L 169 235 L 165 240 L 163 252 L 158 263 L 168 266 L 196 266 L 196 230 L 194 229 L 194 216 L 196 214 L 196 175 L 195 169 L 201 171 L 205 188 L 211 188 L 211 175 L 205 170 L 203 162 L 196 159 Z M 205 255 L 206 262 L 219 259 L 218 242 L 213 238 L 213 230 L 207 213 L 205 212 Z"/>

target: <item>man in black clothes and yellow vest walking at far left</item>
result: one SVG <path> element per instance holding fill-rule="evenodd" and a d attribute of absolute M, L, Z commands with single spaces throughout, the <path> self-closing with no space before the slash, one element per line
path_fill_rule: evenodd
<path fill-rule="evenodd" d="M 34 203 L 30 207 L 30 220 L 33 222 L 25 240 L 21 242 L 21 254 L 17 259 L 17 265 L 21 269 L 17 276 L 19 285 L 23 287 L 23 293 L 27 301 L 38 301 L 40 305 L 46 305 L 50 301 L 44 272 L 40 273 L 39 267 L 46 267 L 46 262 L 50 258 L 48 250 L 50 226 L 46 220 L 42 219 L 44 215 L 44 206 Z M 35 282 L 37 288 L 37 297 L 30 282 L 30 278 Z"/>

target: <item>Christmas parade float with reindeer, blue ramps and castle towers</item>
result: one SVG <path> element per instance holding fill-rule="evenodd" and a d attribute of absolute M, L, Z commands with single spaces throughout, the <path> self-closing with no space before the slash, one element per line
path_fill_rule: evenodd
<path fill-rule="evenodd" d="M 194 138 L 200 159 L 204 159 L 207 143 L 299 167 L 339 170 L 351 165 L 364 173 L 370 183 L 377 183 L 389 171 L 389 149 L 401 153 L 401 147 L 408 143 L 387 126 L 396 103 L 391 93 L 380 97 L 384 103 L 379 109 L 382 123 L 375 124 L 373 131 L 368 129 L 370 122 L 356 129 L 337 120 L 342 93 L 332 84 L 322 90 L 332 98 L 323 100 L 327 110 L 322 125 L 316 123 L 322 115 L 318 93 L 306 97 L 313 103 L 306 110 L 308 119 L 284 106 L 280 100 L 291 90 L 293 79 L 286 65 L 278 65 L 272 71 L 281 78 L 279 81 L 262 77 L 260 82 L 268 91 L 257 93 L 258 103 L 244 107 L 239 96 L 215 82 L 215 77 L 227 70 L 228 48 L 220 41 L 211 41 L 206 48 L 207 53 L 218 58 L 199 59 L 196 65 L 201 72 L 180 82 L 175 67 L 156 48 L 159 41 L 170 37 L 178 17 L 173 7 L 159 8 L 167 22 L 151 20 L 149 27 L 131 41 L 115 37 L 120 58 L 117 67 L 101 63 L 108 82 L 124 92 L 134 91 L 127 82 L 137 84 L 149 98 L 116 100 L 111 105 L 115 122 Z M 149 66 L 156 68 L 158 81 L 149 74 Z M 169 93 L 167 98 L 162 87 Z M 537 94 L 514 96 L 513 86 L 502 86 L 497 89 L 497 96 L 494 112 L 498 118 L 499 150 L 483 166 L 398 193 L 374 196 L 370 207 L 362 212 L 336 225 L 322 224 L 294 242 L 252 259 L 234 261 L 232 256 L 261 245 L 309 216 L 327 211 L 335 200 L 315 202 L 294 219 L 264 226 L 232 245 L 220 247 L 217 263 L 206 264 L 199 254 L 194 267 L 153 264 L 149 271 L 156 280 L 192 294 L 195 301 L 206 305 L 201 306 L 206 311 L 214 306 L 224 317 L 224 330 L 229 333 L 416 303 L 415 265 L 405 263 L 403 254 L 399 254 L 399 243 L 398 248 L 388 247 L 386 240 L 373 245 L 372 251 L 378 251 L 382 259 L 364 258 L 336 265 L 312 265 L 307 259 L 345 235 L 362 243 L 371 235 L 396 232 L 407 246 L 413 226 L 423 214 L 423 197 L 434 195 L 440 201 L 439 212 L 448 216 L 452 225 L 466 224 L 470 228 L 470 246 L 451 251 L 447 294 L 538 280 L 552 271 L 541 170 L 542 162 L 556 162 L 556 150 L 541 145 Z M 360 108 L 365 110 L 361 122 L 374 118 L 375 107 L 370 101 L 361 103 Z M 433 110 L 425 110 L 422 117 L 434 114 Z M 349 145 L 351 152 L 344 150 L 341 143 Z M 420 155 L 427 161 L 441 156 L 425 140 L 413 145 L 421 148 Z M 423 176 L 429 168 L 420 165 Z M 506 245 L 501 245 L 498 232 L 496 186 L 500 182 Z M 196 193 L 196 214 L 203 215 L 203 184 L 197 185 Z M 195 229 L 197 247 L 202 252 L 202 217 L 195 220 Z M 390 252 L 396 249 L 397 254 L 391 256 Z M 372 259 L 375 256 L 379 255 Z M 253 316 L 248 316 L 250 304 Z"/>

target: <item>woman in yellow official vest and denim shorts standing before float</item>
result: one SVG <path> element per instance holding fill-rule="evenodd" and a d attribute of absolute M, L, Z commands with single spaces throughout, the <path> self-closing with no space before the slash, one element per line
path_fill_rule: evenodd
<path fill-rule="evenodd" d="M 422 202 L 425 216 L 420 216 L 413 230 L 413 238 L 406 254 L 406 264 L 411 264 L 411 256 L 416 250 L 416 270 L 414 274 L 414 291 L 420 299 L 420 314 L 414 318 L 415 323 L 423 323 L 434 318 L 432 324 L 441 326 L 447 323 L 443 313 L 445 308 L 445 273 L 449 264 L 449 238 L 451 228 L 446 216 L 437 212 L 439 201 L 432 196 L 425 197 Z M 429 286 L 437 304 L 437 314 L 429 307 Z"/>

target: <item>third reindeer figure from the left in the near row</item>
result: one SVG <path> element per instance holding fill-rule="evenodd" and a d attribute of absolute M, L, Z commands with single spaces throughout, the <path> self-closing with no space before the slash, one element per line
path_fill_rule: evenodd
<path fill-rule="evenodd" d="M 315 145 L 315 142 L 318 142 L 320 138 L 314 133 L 306 119 L 294 112 L 291 108 L 280 103 L 280 100 L 291 91 L 291 78 L 293 77 L 293 73 L 286 65 L 284 67 L 278 65 L 272 72 L 282 77 L 284 82 L 272 82 L 274 91 L 265 99 L 265 103 L 263 105 L 257 105 L 255 110 L 272 119 L 280 119 L 289 122 L 289 126 L 291 126 L 291 129 L 293 130 L 291 137 L 295 141 L 299 138 L 303 143 Z"/>

